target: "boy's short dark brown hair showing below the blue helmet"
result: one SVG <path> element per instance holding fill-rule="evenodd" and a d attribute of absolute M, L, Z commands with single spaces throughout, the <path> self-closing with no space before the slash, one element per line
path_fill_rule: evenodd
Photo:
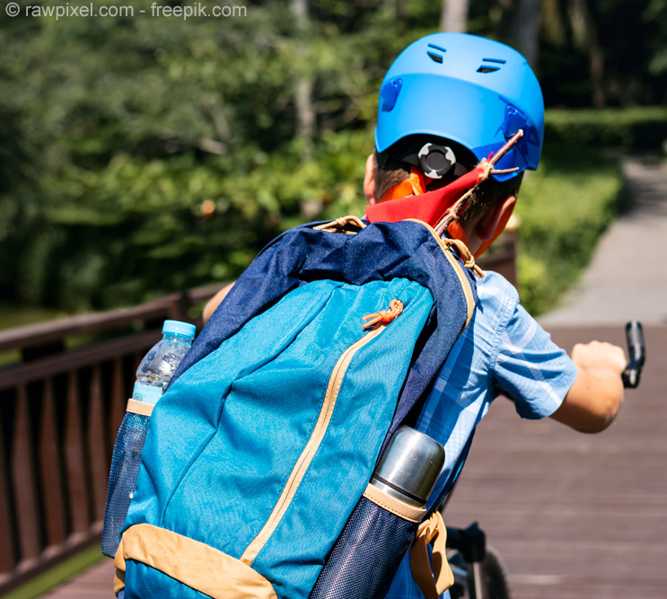
<path fill-rule="evenodd" d="M 400 140 L 398 144 L 392 145 L 383 152 L 373 153 L 375 197 L 380 199 L 392 187 L 401 181 L 408 179 L 410 166 L 395 157 L 396 154 L 406 152 L 410 145 L 423 145 L 426 141 L 441 145 L 450 145 L 461 162 L 468 170 L 474 168 L 478 163 L 477 158 L 462 145 L 439 137 L 411 136 Z M 466 225 L 481 212 L 496 204 L 497 201 L 516 196 L 523 180 L 523 172 L 508 181 L 496 181 L 489 177 L 478 186 L 472 193 L 468 206 L 461 215 L 461 225 Z M 449 181 L 448 181 L 449 182 Z"/>

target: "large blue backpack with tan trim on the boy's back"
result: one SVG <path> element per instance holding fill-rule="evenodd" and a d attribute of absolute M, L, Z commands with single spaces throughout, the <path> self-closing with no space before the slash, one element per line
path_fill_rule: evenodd
<path fill-rule="evenodd" d="M 353 596 L 322 591 L 342 568 L 328 564 L 341 544 L 391 544 L 396 527 L 367 517 L 382 504 L 369 480 L 476 304 L 474 262 L 456 245 L 418 221 L 347 217 L 297 227 L 259 253 L 155 406 L 117 595 Z M 398 559 L 417 531 L 437 535 L 420 525 L 426 510 L 382 507 L 408 523 Z M 360 535 L 360 517 L 374 532 Z M 375 562 L 347 564 L 347 578 L 367 581 Z"/>

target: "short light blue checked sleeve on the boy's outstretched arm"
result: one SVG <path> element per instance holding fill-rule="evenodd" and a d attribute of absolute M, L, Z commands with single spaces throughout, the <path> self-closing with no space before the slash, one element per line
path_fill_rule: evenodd
<path fill-rule="evenodd" d="M 576 366 L 522 305 L 516 304 L 498 343 L 496 386 L 522 418 L 553 414 L 575 383 Z"/>

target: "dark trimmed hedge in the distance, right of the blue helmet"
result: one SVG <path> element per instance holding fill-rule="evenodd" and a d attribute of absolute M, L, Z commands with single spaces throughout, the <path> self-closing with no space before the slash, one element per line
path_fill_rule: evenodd
<path fill-rule="evenodd" d="M 544 142 L 589 146 L 622 146 L 660 150 L 667 140 L 667 107 L 644 106 L 604 110 L 547 110 Z"/>

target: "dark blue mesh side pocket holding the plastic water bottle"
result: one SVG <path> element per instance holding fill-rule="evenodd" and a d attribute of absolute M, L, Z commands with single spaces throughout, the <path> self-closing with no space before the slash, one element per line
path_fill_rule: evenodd
<path fill-rule="evenodd" d="M 111 458 L 107 506 L 104 509 L 101 550 L 110 558 L 118 551 L 120 527 L 135 493 L 141 450 L 144 448 L 149 418 L 127 412 L 118 429 Z"/>

